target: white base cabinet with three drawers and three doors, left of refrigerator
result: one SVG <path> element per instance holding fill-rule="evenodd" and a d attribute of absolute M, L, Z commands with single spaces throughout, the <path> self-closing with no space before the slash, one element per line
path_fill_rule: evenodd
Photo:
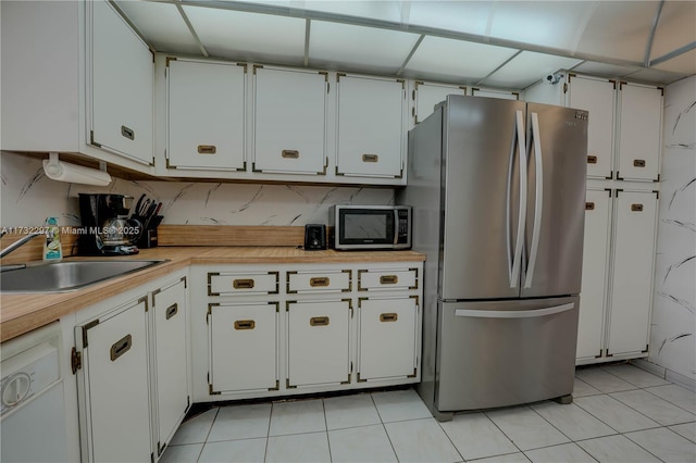
<path fill-rule="evenodd" d="M 420 261 L 195 265 L 194 402 L 418 383 L 422 274 Z"/>

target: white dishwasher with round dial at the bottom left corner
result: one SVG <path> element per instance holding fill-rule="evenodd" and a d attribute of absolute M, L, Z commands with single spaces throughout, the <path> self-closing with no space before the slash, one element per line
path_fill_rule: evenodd
<path fill-rule="evenodd" d="M 3 462 L 65 462 L 67 434 L 58 322 L 0 346 Z"/>

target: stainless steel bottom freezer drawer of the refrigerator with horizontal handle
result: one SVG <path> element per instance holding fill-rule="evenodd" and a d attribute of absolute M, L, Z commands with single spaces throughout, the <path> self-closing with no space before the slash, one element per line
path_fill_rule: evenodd
<path fill-rule="evenodd" d="M 579 301 L 439 302 L 435 408 L 490 409 L 571 395 Z"/>

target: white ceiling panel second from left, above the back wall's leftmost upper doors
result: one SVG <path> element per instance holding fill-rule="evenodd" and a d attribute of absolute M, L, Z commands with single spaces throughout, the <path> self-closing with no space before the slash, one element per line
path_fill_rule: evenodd
<path fill-rule="evenodd" d="M 301 65 L 304 23 L 297 17 L 184 7 L 211 57 Z"/>

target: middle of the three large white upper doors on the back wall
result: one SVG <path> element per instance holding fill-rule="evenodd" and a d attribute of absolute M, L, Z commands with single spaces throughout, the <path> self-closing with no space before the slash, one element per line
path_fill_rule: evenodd
<path fill-rule="evenodd" d="M 254 171 L 325 174 L 327 75 L 254 66 Z"/>

